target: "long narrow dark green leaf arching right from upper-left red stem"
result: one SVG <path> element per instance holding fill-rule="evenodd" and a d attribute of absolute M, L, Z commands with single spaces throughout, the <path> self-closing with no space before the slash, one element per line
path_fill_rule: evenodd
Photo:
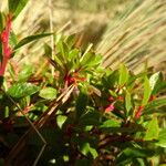
<path fill-rule="evenodd" d="M 22 39 L 14 48 L 13 48 L 13 51 L 22 48 L 23 45 L 34 41 L 34 40 L 39 40 L 39 39 L 42 39 L 42 38 L 45 38 L 45 37 L 49 37 L 49 35 L 52 35 L 53 33 L 41 33 L 41 34 L 35 34 L 35 35 L 29 35 L 24 39 Z"/>

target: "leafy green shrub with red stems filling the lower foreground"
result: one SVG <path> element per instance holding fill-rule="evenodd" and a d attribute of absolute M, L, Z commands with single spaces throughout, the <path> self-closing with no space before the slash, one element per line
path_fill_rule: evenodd
<path fill-rule="evenodd" d="M 18 1 L 19 9 L 13 11 L 12 2 L 9 9 L 15 19 L 24 3 Z M 6 20 L 4 13 L 1 17 Z M 8 21 L 3 24 L 1 34 Z M 10 59 L 23 45 L 51 34 L 12 42 L 17 34 L 11 30 Z M 166 97 L 160 94 L 166 82 L 162 73 L 134 74 L 124 64 L 117 70 L 104 69 L 102 55 L 91 44 L 76 46 L 74 35 L 54 34 L 54 54 L 48 43 L 43 44 L 40 68 L 15 68 L 8 61 L 8 75 L 1 75 L 0 164 L 163 164 L 166 129 L 159 120 L 165 113 Z"/>

